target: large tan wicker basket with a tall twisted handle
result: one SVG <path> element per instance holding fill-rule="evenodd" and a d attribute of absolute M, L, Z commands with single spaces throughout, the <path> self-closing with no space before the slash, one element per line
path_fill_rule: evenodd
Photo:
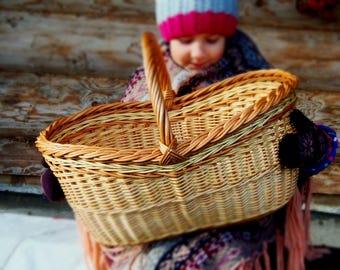
<path fill-rule="evenodd" d="M 153 34 L 142 48 L 151 102 L 88 108 L 36 141 L 90 234 L 144 243 L 284 206 L 298 172 L 281 168 L 278 143 L 292 132 L 297 78 L 260 70 L 174 97 Z"/>

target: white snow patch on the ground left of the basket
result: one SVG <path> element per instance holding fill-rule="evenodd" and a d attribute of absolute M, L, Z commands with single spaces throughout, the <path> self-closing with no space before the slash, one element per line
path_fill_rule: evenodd
<path fill-rule="evenodd" d="M 1 270 L 86 270 L 74 219 L 0 213 Z"/>

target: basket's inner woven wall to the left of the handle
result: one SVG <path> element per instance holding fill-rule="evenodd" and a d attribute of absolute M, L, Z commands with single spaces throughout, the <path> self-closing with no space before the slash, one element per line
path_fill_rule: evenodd
<path fill-rule="evenodd" d="M 80 122 L 56 134 L 53 141 L 63 144 L 105 148 L 155 148 L 159 132 L 153 114 L 131 120 L 131 114 L 112 114 Z"/>

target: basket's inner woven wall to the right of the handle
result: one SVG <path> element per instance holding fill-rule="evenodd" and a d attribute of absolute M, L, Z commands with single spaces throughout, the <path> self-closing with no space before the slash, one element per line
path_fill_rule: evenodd
<path fill-rule="evenodd" d="M 279 82 L 254 82 L 235 87 L 229 92 L 208 96 L 181 110 L 170 112 L 172 130 L 176 139 L 179 142 L 191 140 L 203 132 L 212 130 L 243 112 L 258 99 L 266 97 L 279 85 Z"/>

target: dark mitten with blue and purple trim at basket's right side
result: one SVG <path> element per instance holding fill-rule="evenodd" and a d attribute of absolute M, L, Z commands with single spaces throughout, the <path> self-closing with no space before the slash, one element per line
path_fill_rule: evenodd
<path fill-rule="evenodd" d="M 289 117 L 296 133 L 286 134 L 279 143 L 281 164 L 300 168 L 310 175 L 327 168 L 338 147 L 336 132 L 327 126 L 315 125 L 299 110 L 294 110 Z"/>

